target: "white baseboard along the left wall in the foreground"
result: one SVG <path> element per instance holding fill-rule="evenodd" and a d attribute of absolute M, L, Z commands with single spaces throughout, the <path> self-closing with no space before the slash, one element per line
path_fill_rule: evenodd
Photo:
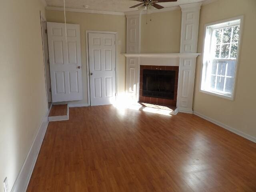
<path fill-rule="evenodd" d="M 26 192 L 28 188 L 30 177 L 34 170 L 34 166 L 36 164 L 36 160 L 37 160 L 42 142 L 44 140 L 44 135 L 46 133 L 47 126 L 49 123 L 48 121 L 49 112 L 50 110 L 46 110 L 46 113 L 44 115 L 44 118 L 42 119 L 38 132 L 36 134 L 36 137 L 34 138 L 32 146 L 30 147 L 26 160 L 22 165 L 22 168 L 16 178 L 16 181 L 14 182 L 11 192 Z"/>

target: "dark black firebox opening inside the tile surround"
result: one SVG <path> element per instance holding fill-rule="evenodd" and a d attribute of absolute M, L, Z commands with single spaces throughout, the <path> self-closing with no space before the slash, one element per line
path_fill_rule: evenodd
<path fill-rule="evenodd" d="M 174 99 L 175 71 L 143 70 L 142 95 Z"/>

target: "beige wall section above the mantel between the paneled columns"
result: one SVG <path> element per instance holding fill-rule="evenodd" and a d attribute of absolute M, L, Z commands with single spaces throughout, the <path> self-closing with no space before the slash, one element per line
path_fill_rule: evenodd
<path fill-rule="evenodd" d="M 179 53 L 181 10 L 142 15 L 141 52 L 142 53 Z"/>

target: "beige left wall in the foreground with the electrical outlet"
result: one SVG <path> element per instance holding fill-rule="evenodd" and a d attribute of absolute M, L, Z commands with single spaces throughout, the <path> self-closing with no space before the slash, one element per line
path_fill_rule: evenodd
<path fill-rule="evenodd" d="M 0 5 L 0 192 L 9 192 L 47 110 L 39 0 Z"/>

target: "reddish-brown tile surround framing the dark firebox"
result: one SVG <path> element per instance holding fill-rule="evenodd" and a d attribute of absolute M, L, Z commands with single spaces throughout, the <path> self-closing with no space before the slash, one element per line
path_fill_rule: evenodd
<path fill-rule="evenodd" d="M 174 82 L 174 99 L 163 99 L 163 98 L 154 98 L 154 97 L 146 97 L 142 96 L 142 86 L 143 86 L 143 70 L 170 70 L 175 71 L 175 82 Z M 177 93 L 178 93 L 178 74 L 179 67 L 178 66 L 150 66 L 150 65 L 141 65 L 140 66 L 140 92 L 139 92 L 139 101 L 152 103 L 152 104 L 160 104 L 160 105 L 168 105 L 175 106 L 177 103 Z"/>

